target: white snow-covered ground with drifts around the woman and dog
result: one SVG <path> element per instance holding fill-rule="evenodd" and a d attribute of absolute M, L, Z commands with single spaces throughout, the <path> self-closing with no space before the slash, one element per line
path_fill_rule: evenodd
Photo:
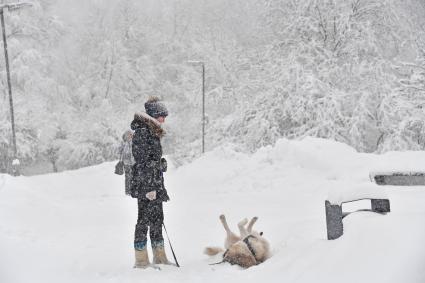
<path fill-rule="evenodd" d="M 391 213 L 354 213 L 334 241 L 324 208 L 373 188 L 370 171 L 424 170 L 425 152 L 359 154 L 307 138 L 253 155 L 222 147 L 171 168 L 165 224 L 182 267 L 162 271 L 132 268 L 136 201 L 113 167 L 0 175 L 0 282 L 425 282 L 425 187 L 379 187 Z M 208 265 L 219 260 L 202 251 L 222 245 L 221 213 L 234 228 L 258 216 L 273 257 L 247 270 Z"/>

